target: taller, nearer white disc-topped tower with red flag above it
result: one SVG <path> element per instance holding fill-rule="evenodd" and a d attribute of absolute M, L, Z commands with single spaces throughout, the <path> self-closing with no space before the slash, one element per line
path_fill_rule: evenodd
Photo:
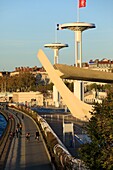
<path fill-rule="evenodd" d="M 75 65 L 82 67 L 82 32 L 91 28 L 95 28 L 95 24 L 86 22 L 74 22 L 61 24 L 60 29 L 69 29 L 75 33 Z M 84 101 L 84 85 L 83 81 L 74 82 L 74 94 L 80 100 Z"/>

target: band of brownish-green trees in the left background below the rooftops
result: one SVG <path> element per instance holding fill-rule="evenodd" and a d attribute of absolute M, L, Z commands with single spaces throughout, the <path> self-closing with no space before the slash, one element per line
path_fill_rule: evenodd
<path fill-rule="evenodd" d="M 29 92 L 40 91 L 46 93 L 52 90 L 53 84 L 49 83 L 49 79 L 42 80 L 34 76 L 30 72 L 20 72 L 15 76 L 0 77 L 0 91 L 2 92 Z"/>

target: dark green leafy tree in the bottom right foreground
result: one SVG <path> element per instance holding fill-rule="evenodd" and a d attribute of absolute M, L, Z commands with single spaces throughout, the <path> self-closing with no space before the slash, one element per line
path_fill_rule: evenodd
<path fill-rule="evenodd" d="M 80 157 L 91 170 L 113 170 L 113 91 L 95 104 L 86 130 L 91 142 L 80 148 Z"/>

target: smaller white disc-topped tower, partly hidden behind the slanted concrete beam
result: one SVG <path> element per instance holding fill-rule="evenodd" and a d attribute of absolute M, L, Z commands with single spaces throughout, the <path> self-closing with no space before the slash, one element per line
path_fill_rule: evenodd
<path fill-rule="evenodd" d="M 52 44 L 45 44 L 44 47 L 51 48 L 54 50 L 54 64 L 58 64 L 59 50 L 64 47 L 68 47 L 68 44 L 52 43 Z M 60 94 L 55 86 L 53 86 L 53 101 L 55 103 L 55 107 L 59 107 Z"/>

